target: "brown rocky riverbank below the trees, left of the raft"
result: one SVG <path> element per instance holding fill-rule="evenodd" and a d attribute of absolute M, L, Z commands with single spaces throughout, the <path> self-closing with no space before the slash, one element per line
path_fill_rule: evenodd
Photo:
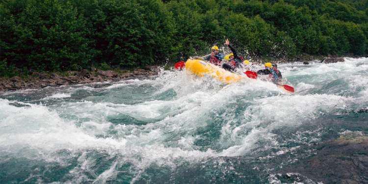
<path fill-rule="evenodd" d="M 73 85 L 102 81 L 118 81 L 122 79 L 147 78 L 158 74 L 158 67 L 151 66 L 146 69 L 134 71 L 68 71 L 63 74 L 33 72 L 26 78 L 19 76 L 10 79 L 0 78 L 0 92 L 20 89 L 37 89 L 47 86 Z"/>

